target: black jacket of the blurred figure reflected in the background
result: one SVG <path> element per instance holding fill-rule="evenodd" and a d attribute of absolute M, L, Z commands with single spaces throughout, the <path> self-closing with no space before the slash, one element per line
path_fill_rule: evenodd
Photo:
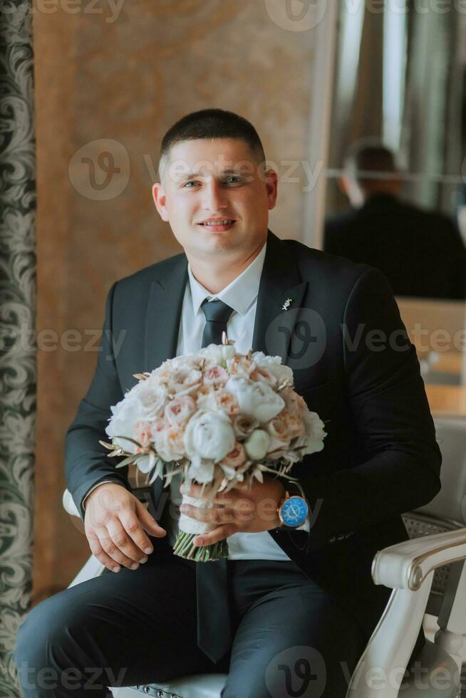
<path fill-rule="evenodd" d="M 466 250 L 454 224 L 388 194 L 328 219 L 323 249 L 380 269 L 395 296 L 465 298 Z"/>

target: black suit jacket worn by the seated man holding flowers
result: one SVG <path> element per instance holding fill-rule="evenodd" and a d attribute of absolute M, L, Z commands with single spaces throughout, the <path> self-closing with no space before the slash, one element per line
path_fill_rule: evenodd
<path fill-rule="evenodd" d="M 185 283 L 180 254 L 110 288 L 95 375 L 66 435 L 66 481 L 82 517 L 96 482 L 113 479 L 131 490 L 98 441 L 108 438 L 110 405 L 135 384 L 133 374 L 175 356 Z M 375 269 L 269 231 L 252 348 L 293 368 L 297 392 L 327 432 L 323 450 L 291 471 L 309 499 L 310 533 L 269 533 L 370 635 L 390 595 L 373 584 L 373 556 L 406 540 L 400 514 L 440 489 L 433 420 L 390 285 Z M 156 519 L 167 499 L 155 481 L 149 511 Z"/>

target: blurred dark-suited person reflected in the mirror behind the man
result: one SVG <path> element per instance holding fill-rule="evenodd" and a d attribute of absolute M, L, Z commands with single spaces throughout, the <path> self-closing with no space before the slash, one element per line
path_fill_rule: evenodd
<path fill-rule="evenodd" d="M 353 210 L 326 221 L 323 249 L 380 269 L 395 296 L 465 298 L 459 231 L 446 216 L 399 199 L 393 153 L 361 141 L 348 152 L 344 171 L 340 186 Z"/>

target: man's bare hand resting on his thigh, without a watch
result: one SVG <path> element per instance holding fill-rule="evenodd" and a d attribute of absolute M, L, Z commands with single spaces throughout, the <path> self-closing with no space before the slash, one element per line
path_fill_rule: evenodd
<path fill-rule="evenodd" d="M 153 548 L 143 529 L 157 538 L 167 533 L 123 485 L 104 482 L 86 499 L 84 531 L 90 550 L 109 570 L 119 572 L 120 565 L 135 570 L 147 561 L 145 553 Z"/>

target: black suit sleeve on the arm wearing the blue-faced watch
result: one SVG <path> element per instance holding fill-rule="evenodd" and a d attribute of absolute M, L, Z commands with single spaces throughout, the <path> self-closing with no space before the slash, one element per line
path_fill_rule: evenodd
<path fill-rule="evenodd" d="M 353 346 L 343 333 L 343 362 L 346 409 L 362 455 L 354 467 L 301 479 L 315 513 L 307 552 L 417 509 L 440 490 L 441 455 L 418 358 L 379 271 L 356 281 L 342 329 L 351 338 L 361 332 Z"/>

